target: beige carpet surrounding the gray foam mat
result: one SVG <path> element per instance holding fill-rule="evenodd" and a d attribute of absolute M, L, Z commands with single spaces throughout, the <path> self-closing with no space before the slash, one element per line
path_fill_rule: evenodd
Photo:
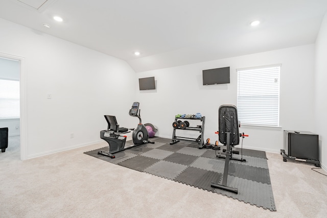
<path fill-rule="evenodd" d="M 18 138 L 18 140 L 17 140 Z M 20 161 L 0 153 L 0 217 L 326 217 L 327 177 L 267 153 L 276 212 L 83 154 L 106 142 Z M 16 148 L 15 148 L 16 147 Z M 322 169 L 319 170 L 325 173 Z"/>

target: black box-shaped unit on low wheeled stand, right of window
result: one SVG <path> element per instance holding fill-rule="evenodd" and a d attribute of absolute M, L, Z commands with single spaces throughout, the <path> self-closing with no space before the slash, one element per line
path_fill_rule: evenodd
<path fill-rule="evenodd" d="M 318 135 L 306 131 L 284 130 L 283 161 L 294 159 L 320 166 Z"/>

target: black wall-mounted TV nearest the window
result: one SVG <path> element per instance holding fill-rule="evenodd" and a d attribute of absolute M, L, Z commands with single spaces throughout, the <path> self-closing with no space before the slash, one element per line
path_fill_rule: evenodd
<path fill-rule="evenodd" d="M 229 66 L 202 70 L 203 85 L 230 83 Z"/>

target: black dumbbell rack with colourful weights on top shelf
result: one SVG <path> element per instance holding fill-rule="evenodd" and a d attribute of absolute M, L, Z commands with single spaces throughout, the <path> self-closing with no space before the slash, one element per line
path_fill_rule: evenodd
<path fill-rule="evenodd" d="M 175 144 L 179 142 L 180 140 L 184 141 L 196 141 L 198 144 L 200 144 L 199 149 L 203 148 L 203 140 L 204 140 L 204 124 L 205 124 L 205 116 L 202 116 L 201 118 L 182 118 L 182 117 L 175 117 L 175 122 L 179 119 L 191 119 L 191 120 L 199 120 L 202 122 L 201 127 L 186 127 L 185 129 L 180 129 L 180 128 L 174 128 L 173 130 L 173 137 L 172 137 L 172 142 L 170 144 Z M 188 137 L 181 137 L 181 136 L 176 136 L 176 130 L 183 130 L 183 131 L 197 131 L 200 132 L 201 135 L 198 138 L 188 138 Z M 200 138 L 200 141 L 199 141 Z"/>

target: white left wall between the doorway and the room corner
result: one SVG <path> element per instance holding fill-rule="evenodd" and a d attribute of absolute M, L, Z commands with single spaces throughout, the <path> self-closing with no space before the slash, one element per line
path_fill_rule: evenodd
<path fill-rule="evenodd" d="M 136 126 L 136 76 L 125 61 L 4 19 L 0 30 L 0 53 L 25 58 L 28 158 L 101 140 L 104 114 Z"/>

